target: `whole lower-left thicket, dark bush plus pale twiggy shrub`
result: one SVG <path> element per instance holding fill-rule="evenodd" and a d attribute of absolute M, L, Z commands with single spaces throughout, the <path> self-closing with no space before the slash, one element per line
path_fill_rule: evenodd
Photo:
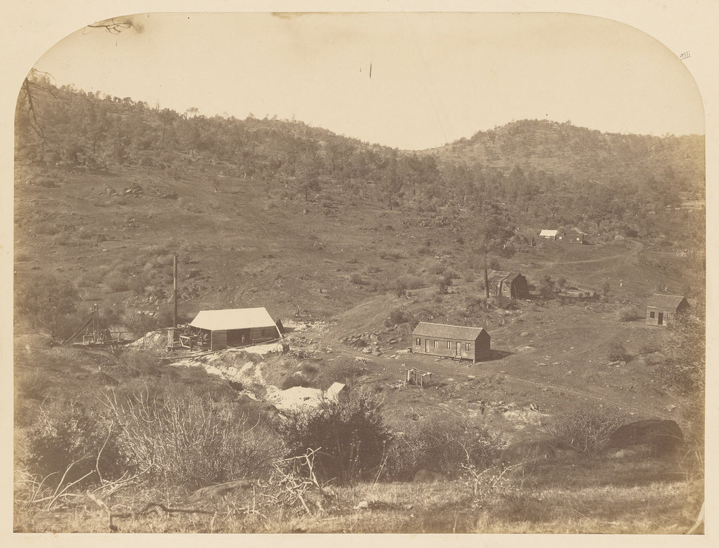
<path fill-rule="evenodd" d="M 47 488 L 142 476 L 194 489 L 266 475 L 283 451 L 262 422 L 209 395 L 150 387 L 40 409 L 27 436 L 27 473 Z M 80 482 L 82 480 L 82 483 Z"/>

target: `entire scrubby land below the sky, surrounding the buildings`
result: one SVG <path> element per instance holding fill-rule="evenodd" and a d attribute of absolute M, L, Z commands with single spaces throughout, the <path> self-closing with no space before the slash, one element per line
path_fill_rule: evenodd
<path fill-rule="evenodd" d="M 497 129 L 500 157 L 489 159 L 486 134 L 400 152 L 301 122 L 206 119 L 42 80 L 29 93 L 14 203 L 16 531 L 692 524 L 703 497 L 705 211 L 701 192 L 667 189 L 703 177 L 699 141 L 663 138 L 664 152 L 640 154 L 655 138 L 597 137 L 581 154 L 602 159 L 592 169 L 603 178 L 574 187 L 589 175 L 567 142 L 588 130 L 564 124 Z M 613 169 L 612 154 L 639 156 Z M 630 171 L 649 185 L 624 185 Z M 587 245 L 539 239 L 562 226 L 585 231 Z M 289 350 L 168 352 L 175 254 L 180 320 L 267 307 L 290 328 Z M 523 273 L 530 298 L 487 299 L 485 267 Z M 646 325 L 658 291 L 687 296 L 686 323 Z M 55 344 L 94 304 L 134 346 Z M 493 351 L 477 363 L 411 353 L 420 321 L 484 327 Z M 406 368 L 433 383 L 403 383 Z M 311 429 L 280 416 L 273 397 L 334 382 L 359 411 L 332 415 L 352 427 L 319 430 L 361 422 L 369 437 L 331 448 L 301 437 L 298 454 L 287 424 Z M 644 419 L 676 422 L 684 444 L 605 447 L 610 429 Z M 575 454 L 502 467 L 503 450 L 547 437 Z M 379 445 L 359 450 L 370 441 Z M 332 485 L 319 495 L 324 481 L 293 468 L 308 444 L 332 452 L 316 455 Z M 338 460 L 344 468 L 327 471 Z M 446 482 L 408 483 L 422 468 Z M 235 480 L 246 481 L 224 498 L 198 494 Z M 152 501 L 198 514 L 155 514 Z"/>

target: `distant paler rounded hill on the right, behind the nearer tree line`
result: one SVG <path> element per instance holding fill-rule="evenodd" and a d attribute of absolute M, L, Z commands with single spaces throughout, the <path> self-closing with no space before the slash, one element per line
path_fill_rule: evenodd
<path fill-rule="evenodd" d="M 429 149 L 441 162 L 479 163 L 509 172 L 542 171 L 562 190 L 587 185 L 630 185 L 667 180 L 670 192 L 702 195 L 704 137 L 623 135 L 572 126 L 569 122 L 521 120 L 477 131 L 444 147 Z"/>

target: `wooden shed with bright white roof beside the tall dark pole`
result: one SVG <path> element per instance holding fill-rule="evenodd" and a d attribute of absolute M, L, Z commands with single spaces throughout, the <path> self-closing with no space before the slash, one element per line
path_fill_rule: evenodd
<path fill-rule="evenodd" d="M 266 343 L 280 338 L 275 320 L 263 307 L 201 310 L 190 326 L 203 335 L 209 335 L 210 350 Z"/>

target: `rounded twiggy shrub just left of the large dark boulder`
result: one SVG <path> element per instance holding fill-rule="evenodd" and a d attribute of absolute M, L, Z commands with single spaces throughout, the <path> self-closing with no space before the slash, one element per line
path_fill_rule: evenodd
<path fill-rule="evenodd" d="M 559 415 L 545 428 L 551 435 L 574 445 L 582 452 L 599 452 L 603 450 L 611 433 L 621 424 L 623 420 L 618 412 L 582 407 Z"/>

